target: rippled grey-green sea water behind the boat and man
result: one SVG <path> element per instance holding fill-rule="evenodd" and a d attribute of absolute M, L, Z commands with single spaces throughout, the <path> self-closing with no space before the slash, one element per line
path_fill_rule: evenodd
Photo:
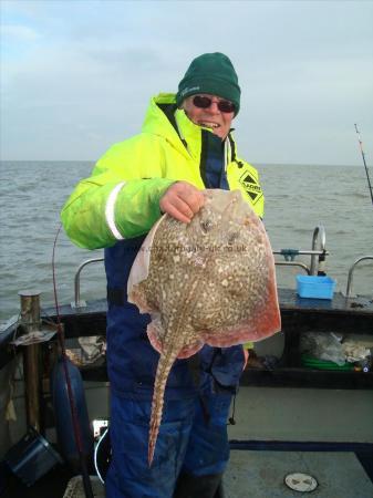
<path fill-rule="evenodd" d="M 363 166 L 255 165 L 266 195 L 265 224 L 273 250 L 309 250 L 313 230 L 327 234 L 327 273 L 345 291 L 351 264 L 373 255 L 373 206 Z M 60 210 L 79 179 L 90 176 L 91 162 L 1 162 L 1 289 L 0 320 L 19 312 L 18 292 L 41 292 L 42 308 L 54 302 L 53 242 Z M 87 259 L 103 250 L 73 246 L 61 230 L 55 246 L 58 300 L 74 300 L 74 274 Z M 282 257 L 276 257 L 284 261 Z M 298 257 L 310 266 L 310 257 Z M 279 287 L 296 288 L 298 267 L 277 267 Z M 373 295 L 373 262 L 354 272 L 353 291 Z M 104 266 L 97 262 L 81 274 L 81 298 L 105 297 Z"/>

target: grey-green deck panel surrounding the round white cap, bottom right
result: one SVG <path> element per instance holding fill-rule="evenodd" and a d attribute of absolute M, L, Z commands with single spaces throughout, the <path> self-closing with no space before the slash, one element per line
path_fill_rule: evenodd
<path fill-rule="evenodd" d="M 318 488 L 289 489 L 284 477 L 298 471 L 313 476 Z M 373 485 L 352 453 L 232 450 L 225 492 L 226 498 L 373 498 Z"/>

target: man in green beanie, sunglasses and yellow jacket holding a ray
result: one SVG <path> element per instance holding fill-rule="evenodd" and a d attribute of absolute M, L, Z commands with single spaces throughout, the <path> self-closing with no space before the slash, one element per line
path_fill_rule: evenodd
<path fill-rule="evenodd" d="M 107 367 L 112 464 L 107 498 L 213 498 L 221 495 L 229 458 L 227 418 L 245 364 L 242 346 L 205 346 L 169 374 L 154 460 L 148 423 L 158 353 L 146 335 L 148 315 L 127 302 L 133 260 L 152 226 L 167 212 L 189 222 L 204 188 L 239 188 L 259 216 L 256 169 L 239 159 L 230 133 L 240 87 L 222 53 L 196 58 L 178 92 L 152 98 L 142 133 L 112 146 L 62 211 L 70 238 L 105 248 Z M 193 369 L 198 371 L 198 385 Z"/>

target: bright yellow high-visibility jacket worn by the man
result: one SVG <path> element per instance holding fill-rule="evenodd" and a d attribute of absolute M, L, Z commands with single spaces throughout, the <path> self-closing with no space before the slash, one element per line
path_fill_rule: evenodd
<path fill-rule="evenodd" d="M 145 235 L 160 217 L 159 199 L 175 181 L 204 189 L 204 134 L 176 107 L 174 94 L 152 98 L 142 133 L 113 145 L 81 180 L 64 205 L 61 218 L 70 239 L 99 249 Z M 265 198 L 256 168 L 237 156 L 225 141 L 229 188 L 240 189 L 258 216 Z"/>

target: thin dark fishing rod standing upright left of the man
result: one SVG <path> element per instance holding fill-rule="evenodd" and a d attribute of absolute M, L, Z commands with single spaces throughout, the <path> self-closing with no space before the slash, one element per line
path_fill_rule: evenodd
<path fill-rule="evenodd" d="M 77 448 L 77 453 L 79 453 L 80 466 L 81 466 L 81 471 L 82 471 L 84 495 L 85 495 L 85 498 L 94 498 L 91 479 L 90 479 L 90 475 L 89 475 L 89 470 L 87 470 L 87 465 L 86 465 L 86 458 L 84 456 L 82 433 L 81 433 L 80 425 L 77 422 L 76 404 L 75 404 L 75 400 L 74 400 L 73 390 L 71 386 L 64 333 L 63 333 L 62 323 L 61 323 L 61 317 L 60 317 L 60 311 L 59 311 L 60 307 L 59 307 L 59 300 L 58 300 L 58 293 L 56 293 L 55 262 L 54 261 L 55 261 L 56 240 L 59 238 L 61 228 L 62 228 L 62 224 L 60 224 L 60 227 L 55 235 L 55 239 L 54 239 L 54 243 L 53 243 L 53 251 L 52 251 L 53 294 L 54 294 L 54 304 L 55 304 L 58 338 L 59 338 L 59 342 L 60 342 L 64 376 L 65 376 L 66 387 L 68 387 L 68 397 L 69 397 L 70 409 L 71 409 L 71 418 L 73 422 L 74 438 L 75 438 L 75 444 L 76 444 L 76 448 Z"/>

